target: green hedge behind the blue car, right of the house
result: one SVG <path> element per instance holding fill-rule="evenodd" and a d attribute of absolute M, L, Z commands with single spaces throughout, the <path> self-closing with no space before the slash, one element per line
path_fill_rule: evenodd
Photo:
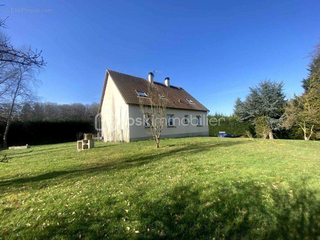
<path fill-rule="evenodd" d="M 251 132 L 254 136 L 254 126 L 249 123 L 241 123 L 236 120 L 234 117 L 225 116 L 220 118 L 220 122 L 210 124 L 210 116 L 208 117 L 209 121 L 209 135 L 212 137 L 218 136 L 219 132 L 227 132 L 233 134 L 236 137 L 245 136 L 247 137 L 246 131 Z"/>

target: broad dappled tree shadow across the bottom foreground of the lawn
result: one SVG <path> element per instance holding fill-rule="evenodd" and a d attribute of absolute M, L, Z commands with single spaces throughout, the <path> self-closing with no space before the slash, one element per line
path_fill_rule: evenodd
<path fill-rule="evenodd" d="M 281 189 L 265 196 L 265 189 L 252 182 L 236 183 L 235 187 L 236 192 L 227 185 L 221 189 L 180 185 L 151 200 L 128 196 L 134 205 L 128 207 L 126 222 L 122 208 L 104 215 L 99 214 L 100 209 L 92 209 L 97 214 L 80 213 L 72 223 L 68 218 L 74 216 L 66 216 L 59 226 L 51 224 L 42 230 L 22 226 L 17 231 L 37 231 L 38 239 L 76 239 L 80 234 L 81 239 L 319 239 L 320 202 L 306 184 L 292 188 L 293 197 Z"/>

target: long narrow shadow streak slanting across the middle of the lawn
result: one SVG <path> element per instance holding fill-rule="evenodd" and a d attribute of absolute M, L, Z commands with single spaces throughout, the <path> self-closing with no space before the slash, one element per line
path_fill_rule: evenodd
<path fill-rule="evenodd" d="M 84 174 L 91 174 L 91 173 L 101 173 L 101 172 L 108 172 L 108 171 L 114 171 L 114 170 L 121 170 L 121 169 L 129 169 L 129 168 L 135 168 L 143 166 L 144 164 L 150 164 L 153 162 L 156 162 L 158 160 L 161 160 L 165 157 L 172 156 L 175 154 L 197 154 L 204 151 L 208 151 L 210 148 L 217 148 L 217 147 L 224 147 L 224 146 L 233 146 L 236 144 L 241 144 L 241 142 L 215 142 L 214 144 L 186 144 L 181 145 L 179 148 L 168 148 L 165 152 L 158 152 L 156 149 L 153 154 L 146 156 L 144 152 L 140 154 L 133 155 L 134 157 L 131 159 L 128 159 L 126 157 L 116 159 L 116 163 L 112 164 L 103 164 L 91 168 L 85 168 L 85 169 L 75 169 L 75 170 L 65 170 L 65 171 L 52 171 L 47 172 L 44 174 L 40 174 L 37 176 L 31 176 L 31 177 L 22 177 L 22 178 L 16 178 L 12 180 L 6 180 L 6 181 L 0 181 L 0 194 L 2 192 L 2 188 L 7 187 L 15 187 L 16 191 L 19 190 L 20 187 L 25 186 L 25 184 L 32 184 L 34 182 L 39 182 L 38 188 L 43 188 L 44 185 L 52 185 L 54 183 L 50 181 L 41 182 L 45 180 L 55 179 L 59 178 L 59 180 L 64 180 L 67 178 L 74 178 L 78 177 Z M 125 148 L 124 148 L 125 149 Z M 41 182 L 41 183 L 40 183 Z M 35 189 L 36 186 L 32 185 L 32 188 Z"/>

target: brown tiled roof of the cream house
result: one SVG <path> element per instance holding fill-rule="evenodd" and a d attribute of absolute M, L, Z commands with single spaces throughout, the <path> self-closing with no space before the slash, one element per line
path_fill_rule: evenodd
<path fill-rule="evenodd" d="M 140 98 L 138 97 L 136 90 L 148 93 L 148 79 L 135 77 L 107 69 L 101 95 L 99 112 L 101 110 L 102 101 L 104 98 L 104 92 L 107 85 L 108 75 L 110 75 L 113 79 L 114 83 L 116 84 L 116 87 L 118 88 L 126 104 L 139 104 Z M 194 97 L 192 97 L 181 87 L 176 87 L 172 85 L 170 85 L 170 87 L 167 87 L 165 84 L 155 81 L 153 82 L 153 84 L 159 87 L 160 92 L 164 93 L 167 100 L 167 108 L 209 111 L 206 107 L 204 107 L 200 102 L 198 102 Z M 187 99 L 192 100 L 194 104 L 189 103 Z M 148 101 L 148 99 L 146 98 L 145 101 Z"/>

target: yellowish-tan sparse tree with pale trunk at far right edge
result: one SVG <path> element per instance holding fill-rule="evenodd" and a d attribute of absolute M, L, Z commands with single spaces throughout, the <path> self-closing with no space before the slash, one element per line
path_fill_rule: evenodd
<path fill-rule="evenodd" d="M 284 127 L 289 129 L 294 125 L 299 126 L 303 131 L 304 140 L 310 140 L 314 126 L 320 121 L 317 109 L 310 104 L 306 94 L 291 99 L 285 107 L 284 116 Z"/>

